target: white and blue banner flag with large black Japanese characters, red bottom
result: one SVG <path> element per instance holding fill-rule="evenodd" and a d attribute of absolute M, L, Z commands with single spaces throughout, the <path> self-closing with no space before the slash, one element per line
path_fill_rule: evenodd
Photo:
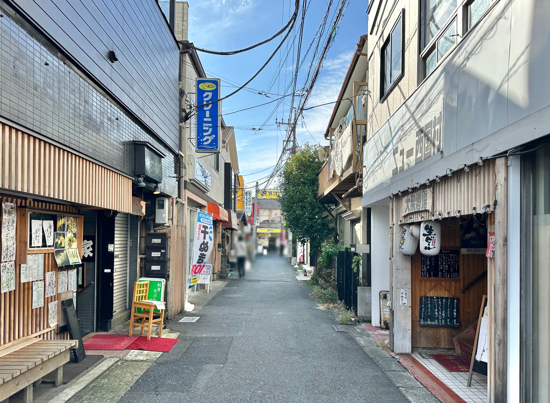
<path fill-rule="evenodd" d="M 204 269 L 214 244 L 214 231 L 212 214 L 205 211 L 197 211 L 197 223 L 195 225 L 195 238 L 193 245 L 193 258 L 190 263 L 189 285 L 194 285 Z"/>

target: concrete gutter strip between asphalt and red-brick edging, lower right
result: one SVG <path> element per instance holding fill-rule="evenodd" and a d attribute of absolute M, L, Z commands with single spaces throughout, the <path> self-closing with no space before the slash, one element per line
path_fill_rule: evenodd
<path fill-rule="evenodd" d="M 393 382 L 407 399 L 412 403 L 441 403 L 431 391 L 426 389 L 420 382 L 413 377 L 407 369 L 401 365 L 400 358 L 388 353 L 382 347 L 376 345 L 376 341 L 371 337 L 370 332 L 360 326 L 357 326 L 357 333 L 348 333 L 354 338 L 361 349 L 371 357 L 386 376 Z"/>

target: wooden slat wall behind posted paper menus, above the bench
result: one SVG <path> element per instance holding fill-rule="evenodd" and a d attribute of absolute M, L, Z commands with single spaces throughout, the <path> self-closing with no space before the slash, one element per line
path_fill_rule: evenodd
<path fill-rule="evenodd" d="M 15 256 L 15 290 L 0 294 L 0 346 L 11 344 L 18 339 L 43 332 L 50 328 L 48 324 L 48 303 L 58 300 L 59 294 L 44 297 L 44 306 L 32 309 L 32 281 L 21 283 L 19 265 L 26 262 L 27 221 L 26 208 L 45 209 L 59 213 L 75 214 L 76 210 L 70 206 L 54 203 L 42 203 L 21 198 L 0 196 L 0 202 L 15 203 L 17 207 L 17 249 Z M 47 212 L 46 211 L 46 212 Z M 79 221 L 79 248 L 81 250 L 82 221 Z M 40 251 L 28 251 L 40 253 Z M 56 281 L 59 279 L 59 268 L 53 253 L 43 253 L 44 273 L 56 272 Z M 46 274 L 44 274 L 46 278 Z M 61 317 L 61 302 L 58 303 L 58 318 Z M 58 326 L 48 332 L 41 333 L 43 339 L 68 339 L 69 335 L 57 333 Z"/>

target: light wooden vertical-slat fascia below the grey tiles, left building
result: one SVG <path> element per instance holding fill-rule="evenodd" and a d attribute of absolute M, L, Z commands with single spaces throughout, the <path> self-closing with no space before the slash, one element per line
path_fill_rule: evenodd
<path fill-rule="evenodd" d="M 0 123 L 0 187 L 131 212 L 131 179 Z"/>

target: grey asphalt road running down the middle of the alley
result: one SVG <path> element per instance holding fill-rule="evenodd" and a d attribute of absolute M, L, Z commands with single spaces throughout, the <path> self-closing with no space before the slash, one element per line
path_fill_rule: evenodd
<path fill-rule="evenodd" d="M 195 323 L 169 327 L 179 343 L 120 402 L 409 402 L 286 260 L 259 257 Z"/>

